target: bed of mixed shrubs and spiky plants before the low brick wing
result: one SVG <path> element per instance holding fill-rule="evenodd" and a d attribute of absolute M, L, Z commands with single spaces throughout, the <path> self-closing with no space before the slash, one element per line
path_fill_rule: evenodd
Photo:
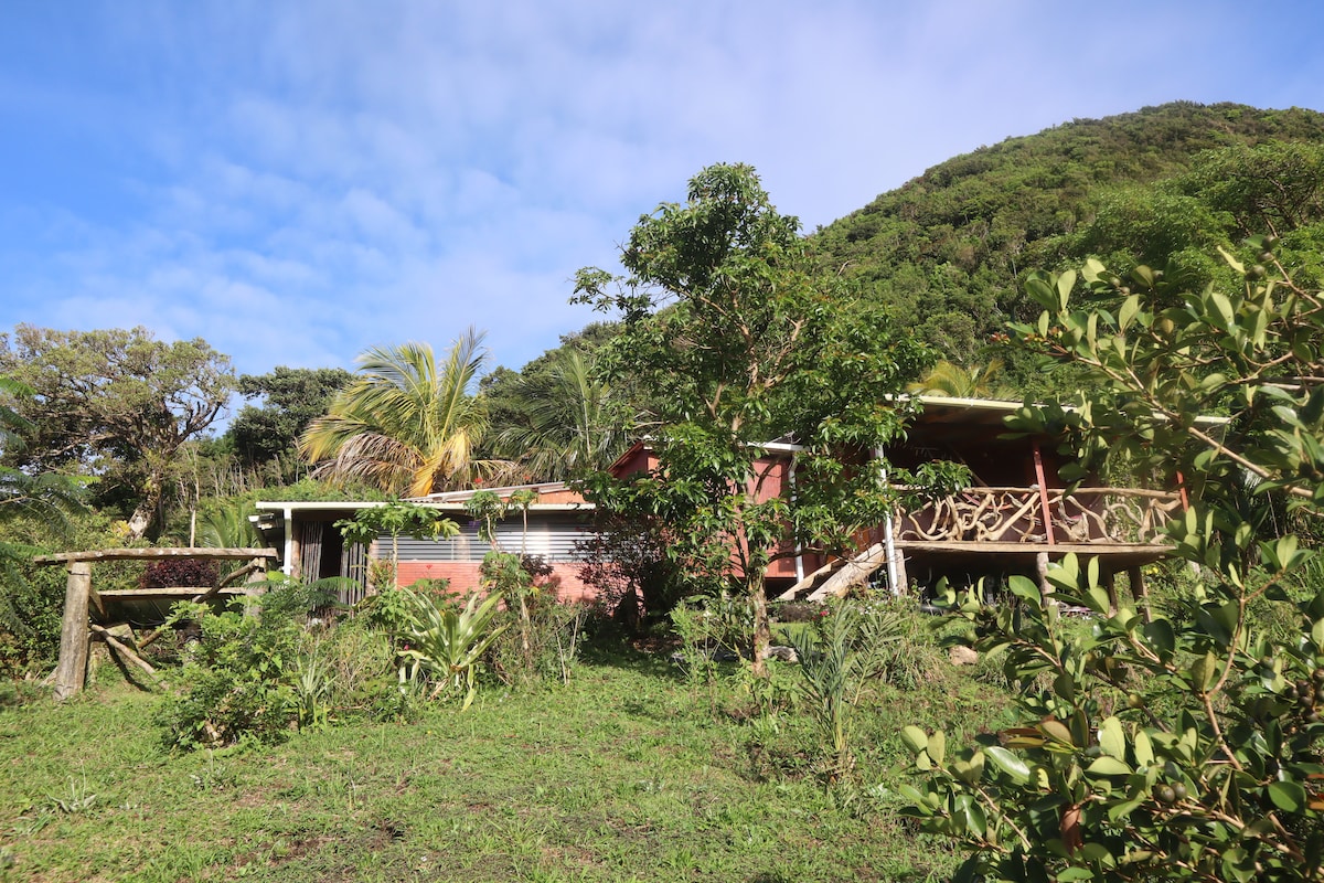
<path fill-rule="evenodd" d="M 409 718 L 425 699 L 455 698 L 463 710 L 485 665 L 506 683 L 564 679 L 577 653 L 584 608 L 555 597 L 534 605 L 526 621 L 502 610 L 499 592 L 461 601 L 438 581 L 387 589 L 369 596 L 357 616 L 322 624 L 308 614 L 334 600 L 331 582 L 271 580 L 256 608 L 245 609 L 254 604 L 248 601 L 224 613 L 179 605 L 175 618 L 195 622 L 200 641 L 184 666 L 187 691 L 169 696 L 160 714 L 167 741 L 275 743 L 306 727 Z M 534 654 L 500 643 L 524 622 L 532 627 L 523 646 Z M 519 676 L 524 662 L 528 678 Z"/>

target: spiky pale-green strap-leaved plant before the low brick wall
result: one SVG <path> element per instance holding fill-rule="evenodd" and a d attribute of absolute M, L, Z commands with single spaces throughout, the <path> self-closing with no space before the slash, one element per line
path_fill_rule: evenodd
<path fill-rule="evenodd" d="M 489 594 L 482 602 L 470 596 L 463 610 L 454 610 L 412 589 L 399 589 L 410 613 L 410 625 L 401 635 L 400 682 L 417 683 L 430 678 L 432 696 L 465 691 L 462 708 L 477 695 L 474 670 L 483 653 L 508 626 L 493 627 L 502 596 Z"/>

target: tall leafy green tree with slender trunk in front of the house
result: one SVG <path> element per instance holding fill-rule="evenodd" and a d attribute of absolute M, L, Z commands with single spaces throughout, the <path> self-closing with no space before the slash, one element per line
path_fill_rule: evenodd
<path fill-rule="evenodd" d="M 841 551 L 878 524 L 891 498 L 857 469 L 902 432 L 890 404 L 928 353 L 875 302 L 820 270 L 794 217 L 753 169 L 712 165 L 685 203 L 643 216 L 621 252 L 628 275 L 581 270 L 577 298 L 618 316 L 598 353 L 609 383 L 645 405 L 630 428 L 658 465 L 588 481 L 600 507 L 654 519 L 673 560 L 696 581 L 733 584 L 753 606 L 751 661 L 764 669 L 764 573 L 780 556 Z M 797 494 L 775 492 L 759 465 L 792 440 Z"/>

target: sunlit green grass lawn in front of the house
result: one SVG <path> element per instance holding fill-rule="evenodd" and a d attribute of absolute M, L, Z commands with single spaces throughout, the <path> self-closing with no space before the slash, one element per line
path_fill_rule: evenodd
<path fill-rule="evenodd" d="M 614 654 L 565 687 L 486 686 L 465 714 L 171 752 L 160 698 L 122 686 L 0 711 L 0 879 L 941 879 L 956 857 L 895 814 L 907 723 L 968 739 L 996 692 L 949 670 L 870 690 L 850 785 L 814 774 L 817 736 L 760 714 L 737 678 L 681 680 Z M 882 789 L 875 786 L 882 785 Z M 879 796 L 882 794 L 882 796 Z"/>

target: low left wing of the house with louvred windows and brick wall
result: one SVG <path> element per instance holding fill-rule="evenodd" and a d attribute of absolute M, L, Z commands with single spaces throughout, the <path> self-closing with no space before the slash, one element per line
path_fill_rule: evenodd
<path fill-rule="evenodd" d="M 544 581 L 556 585 L 563 600 L 591 594 L 580 580 L 577 544 L 592 536 L 593 506 L 563 482 L 486 488 L 502 499 L 515 491 L 534 491 L 536 499 L 526 514 L 512 511 L 496 524 L 496 543 L 506 552 L 540 557 L 552 573 Z M 459 526 L 459 535 L 440 540 L 396 539 L 396 582 L 410 585 L 420 579 L 449 580 L 453 592 L 478 589 L 479 568 L 491 544 L 478 536 L 478 523 L 465 510 L 477 490 L 430 494 L 414 500 L 441 511 Z M 384 503 L 373 502 L 258 502 L 258 527 L 281 551 L 281 571 L 303 580 L 340 576 L 354 580 L 354 589 L 340 593 L 354 604 L 368 592 L 369 561 L 389 559 L 392 537 L 379 536 L 368 548 L 347 544 L 335 522 Z"/>

